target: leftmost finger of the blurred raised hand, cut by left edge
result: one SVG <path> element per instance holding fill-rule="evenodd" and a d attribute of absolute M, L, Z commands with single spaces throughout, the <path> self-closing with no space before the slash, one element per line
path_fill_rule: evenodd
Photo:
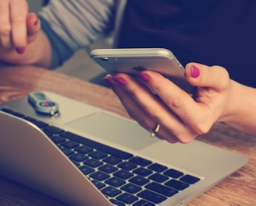
<path fill-rule="evenodd" d="M 9 21 L 9 4 L 6 1 L 0 1 L 0 45 L 2 47 L 11 47 L 11 24 Z"/>

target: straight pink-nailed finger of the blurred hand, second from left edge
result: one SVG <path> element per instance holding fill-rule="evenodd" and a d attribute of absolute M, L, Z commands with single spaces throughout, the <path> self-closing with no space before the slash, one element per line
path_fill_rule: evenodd
<path fill-rule="evenodd" d="M 12 43 L 17 48 L 27 45 L 27 1 L 11 0 L 10 21 L 12 24 Z"/>

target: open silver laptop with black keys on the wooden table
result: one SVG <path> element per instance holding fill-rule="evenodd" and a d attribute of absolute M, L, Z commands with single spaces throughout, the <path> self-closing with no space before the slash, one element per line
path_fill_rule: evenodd
<path fill-rule="evenodd" d="M 0 174 L 72 206 L 183 205 L 247 163 L 201 141 L 170 144 L 135 121 L 44 92 L 59 116 L 27 96 L 0 106 Z"/>

